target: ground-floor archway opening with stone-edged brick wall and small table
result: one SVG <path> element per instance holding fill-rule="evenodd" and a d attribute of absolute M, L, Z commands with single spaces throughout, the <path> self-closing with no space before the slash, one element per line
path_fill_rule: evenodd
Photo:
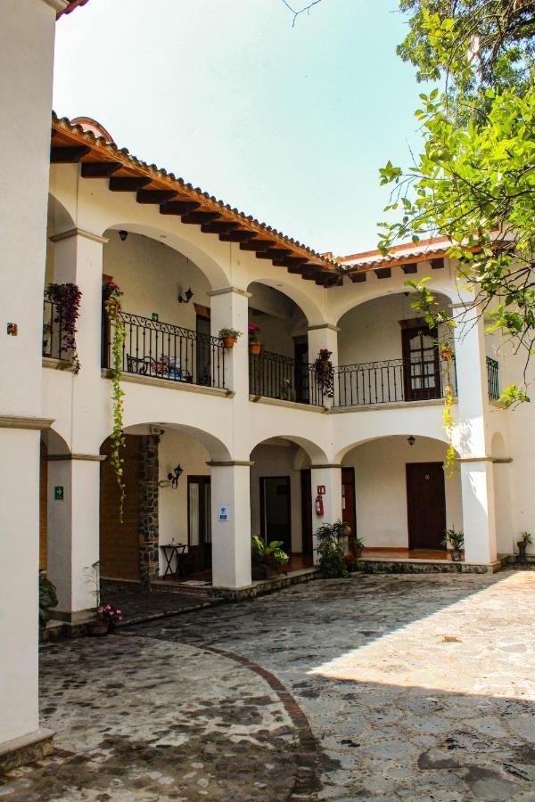
<path fill-rule="evenodd" d="M 101 463 L 102 576 L 143 584 L 157 580 L 167 568 L 161 546 L 173 542 L 185 545 L 184 571 L 210 569 L 210 462 L 228 460 L 227 446 L 208 431 L 177 422 L 130 424 L 125 436 L 122 523 L 110 438 L 101 446 L 107 457 Z M 177 568 L 175 560 L 172 566 Z"/>

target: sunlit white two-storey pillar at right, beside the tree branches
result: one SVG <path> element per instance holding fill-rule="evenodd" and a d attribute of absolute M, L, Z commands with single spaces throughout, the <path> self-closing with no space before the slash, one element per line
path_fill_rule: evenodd
<path fill-rule="evenodd" d="M 489 409 L 484 323 L 477 310 L 454 307 L 458 424 L 465 561 L 496 560 L 496 515 L 486 416 Z"/>

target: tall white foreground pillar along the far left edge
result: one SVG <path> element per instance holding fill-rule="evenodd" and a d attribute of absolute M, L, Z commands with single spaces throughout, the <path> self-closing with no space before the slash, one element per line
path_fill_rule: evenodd
<path fill-rule="evenodd" d="M 40 419 L 43 290 L 55 14 L 65 6 L 61 0 L 0 4 L 0 149 L 8 154 L 0 193 L 0 746 L 6 751 L 51 737 L 38 732 L 37 709 L 39 429 L 52 422 Z M 7 333 L 8 323 L 16 324 L 16 336 Z"/>

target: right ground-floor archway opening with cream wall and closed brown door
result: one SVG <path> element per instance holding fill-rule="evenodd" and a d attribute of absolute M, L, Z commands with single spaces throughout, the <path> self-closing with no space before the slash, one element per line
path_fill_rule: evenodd
<path fill-rule="evenodd" d="M 447 448 L 408 433 L 343 449 L 342 468 L 355 472 L 357 534 L 365 548 L 445 556 L 444 530 L 463 528 L 460 475 L 448 479 L 443 471 Z"/>

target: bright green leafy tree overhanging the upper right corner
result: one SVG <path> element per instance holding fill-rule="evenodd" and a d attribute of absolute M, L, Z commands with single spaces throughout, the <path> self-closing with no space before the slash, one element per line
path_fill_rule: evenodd
<path fill-rule="evenodd" d="M 476 314 L 513 338 L 529 355 L 535 348 L 535 3 L 529 0 L 401 0 L 412 12 L 399 54 L 418 78 L 440 81 L 421 94 L 416 111 L 422 152 L 405 170 L 391 162 L 380 171 L 392 185 L 380 248 L 445 235 L 459 279 L 472 291 Z M 428 281 L 428 279 L 427 279 Z M 412 282 L 414 306 L 429 321 L 455 325 L 430 288 Z M 503 401 L 528 400 L 506 388 Z"/>

